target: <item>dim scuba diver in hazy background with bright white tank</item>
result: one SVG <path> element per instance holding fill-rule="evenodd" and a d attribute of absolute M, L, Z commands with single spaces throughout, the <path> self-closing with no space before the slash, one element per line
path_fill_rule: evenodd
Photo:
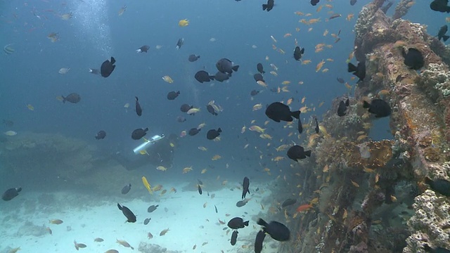
<path fill-rule="evenodd" d="M 117 153 L 115 160 L 127 170 L 138 169 L 139 167 L 152 164 L 155 167 L 172 167 L 174 159 L 174 148 L 178 144 L 178 136 L 170 134 L 157 134 L 151 138 L 143 138 L 144 142 L 133 150 L 133 155 L 123 155 Z"/>

